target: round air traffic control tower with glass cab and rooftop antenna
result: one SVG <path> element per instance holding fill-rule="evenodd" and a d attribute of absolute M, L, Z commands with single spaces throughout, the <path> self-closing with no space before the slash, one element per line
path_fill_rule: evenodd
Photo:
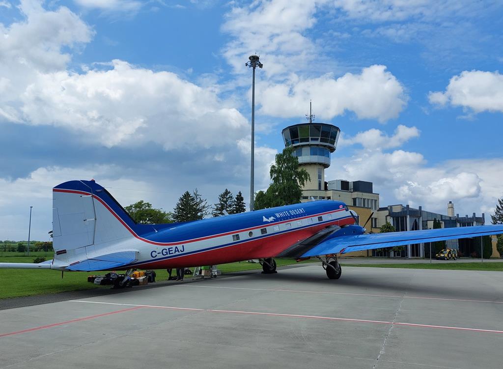
<path fill-rule="evenodd" d="M 310 181 L 303 190 L 325 190 L 325 169 L 330 166 L 330 154 L 336 151 L 341 130 L 328 123 L 315 123 L 314 115 L 306 115 L 309 123 L 294 124 L 283 129 L 285 146 L 294 148 L 299 165 L 309 173 Z"/>

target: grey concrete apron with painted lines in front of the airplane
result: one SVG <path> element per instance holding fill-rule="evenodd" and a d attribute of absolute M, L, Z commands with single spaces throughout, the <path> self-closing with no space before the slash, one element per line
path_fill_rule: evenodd
<path fill-rule="evenodd" d="M 320 265 L 0 311 L 0 367 L 501 368 L 503 274 Z"/>

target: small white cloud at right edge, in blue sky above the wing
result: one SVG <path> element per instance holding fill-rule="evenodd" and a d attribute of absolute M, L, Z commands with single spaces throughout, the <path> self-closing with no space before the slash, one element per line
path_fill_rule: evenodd
<path fill-rule="evenodd" d="M 503 112 L 503 75 L 498 71 L 463 71 L 449 81 L 445 92 L 430 92 L 430 103 L 461 106 L 475 113 Z"/>

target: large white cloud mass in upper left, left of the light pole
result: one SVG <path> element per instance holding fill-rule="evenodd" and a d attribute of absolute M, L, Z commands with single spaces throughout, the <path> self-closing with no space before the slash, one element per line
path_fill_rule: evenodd
<path fill-rule="evenodd" d="M 25 20 L 0 26 L 0 122 L 54 125 L 107 147 L 155 142 L 166 150 L 236 144 L 248 122 L 213 88 L 175 73 L 114 60 L 82 73 L 66 70 L 63 46 L 93 31 L 67 8 L 23 1 Z M 105 70 L 104 70 L 105 69 Z"/>

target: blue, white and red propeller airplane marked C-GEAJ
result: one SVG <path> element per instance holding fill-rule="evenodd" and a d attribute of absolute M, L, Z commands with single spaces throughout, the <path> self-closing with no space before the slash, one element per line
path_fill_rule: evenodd
<path fill-rule="evenodd" d="M 274 258 L 317 258 L 329 279 L 342 273 L 338 255 L 360 250 L 503 234 L 503 225 L 367 234 L 355 211 L 320 200 L 193 222 L 137 224 L 94 180 L 53 188 L 54 259 L 0 263 L 0 268 L 61 271 L 166 269 L 259 259 L 265 274 Z M 122 282 L 121 282 L 122 283 Z"/>

